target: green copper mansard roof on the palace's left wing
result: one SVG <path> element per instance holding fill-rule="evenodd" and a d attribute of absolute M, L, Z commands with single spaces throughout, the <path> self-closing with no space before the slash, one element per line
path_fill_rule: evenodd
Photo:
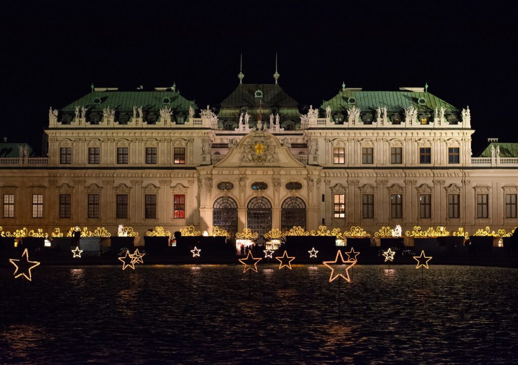
<path fill-rule="evenodd" d="M 164 107 L 171 108 L 174 112 L 186 112 L 192 105 L 193 101 L 185 99 L 176 91 L 108 91 L 84 95 L 61 111 L 74 112 L 76 106 L 84 106 L 89 111 L 102 111 L 103 108 L 111 107 L 119 111 L 133 112 L 134 106 L 142 106 L 147 112 L 159 112 Z"/>

